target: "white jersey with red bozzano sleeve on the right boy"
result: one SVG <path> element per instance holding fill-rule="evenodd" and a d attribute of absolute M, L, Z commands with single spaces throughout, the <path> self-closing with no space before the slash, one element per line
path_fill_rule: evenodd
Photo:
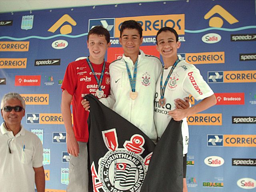
<path fill-rule="evenodd" d="M 172 66 L 170 66 L 168 69 L 164 69 L 162 85 L 164 85 L 171 68 Z M 164 107 L 160 106 L 159 104 L 159 99 L 161 98 L 160 80 L 161 76 L 158 78 L 156 83 L 156 94 L 154 101 L 154 120 L 158 137 L 162 136 L 170 120 L 172 119 L 172 117 L 168 115 L 168 112 L 175 109 L 175 99 L 184 99 L 191 94 L 196 100 L 202 100 L 214 94 L 212 89 L 204 81 L 200 71 L 193 64 L 188 64 L 185 60 L 181 60 L 177 64 L 168 80 L 164 92 L 164 98 L 166 98 L 166 104 Z M 188 152 L 189 140 L 188 123 L 186 118 L 184 118 L 182 122 L 182 138 L 183 154 L 186 154 Z"/>

